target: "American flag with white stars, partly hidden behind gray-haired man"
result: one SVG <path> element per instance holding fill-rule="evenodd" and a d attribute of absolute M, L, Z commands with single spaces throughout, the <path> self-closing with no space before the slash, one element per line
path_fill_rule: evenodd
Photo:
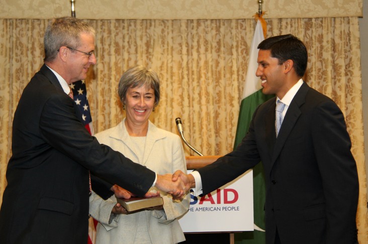
<path fill-rule="evenodd" d="M 74 102 L 78 105 L 80 114 L 82 115 L 83 124 L 89 134 L 94 134 L 92 126 L 92 118 L 90 116 L 89 104 L 87 100 L 87 89 L 84 80 L 78 80 L 72 83 L 70 89 L 73 91 Z M 96 240 L 96 225 L 98 221 L 92 217 L 88 220 L 88 244 L 94 244 Z"/>

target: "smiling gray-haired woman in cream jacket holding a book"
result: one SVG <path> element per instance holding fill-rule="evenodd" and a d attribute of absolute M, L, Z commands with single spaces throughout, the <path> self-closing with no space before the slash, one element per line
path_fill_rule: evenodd
<path fill-rule="evenodd" d="M 118 93 L 126 118 L 116 127 L 96 134 L 99 142 L 157 174 L 186 172 L 179 136 L 157 128 L 148 120 L 160 99 L 156 72 L 143 66 L 130 68 L 120 78 Z M 150 192 L 156 191 L 154 187 L 150 189 Z M 171 244 L 184 241 L 177 218 L 187 213 L 190 195 L 173 200 L 171 195 L 159 193 L 164 201 L 162 207 L 114 214 L 117 212 L 114 210 L 123 208 L 116 205 L 115 196 L 105 201 L 93 192 L 89 198 L 89 213 L 99 221 L 96 243 Z"/>

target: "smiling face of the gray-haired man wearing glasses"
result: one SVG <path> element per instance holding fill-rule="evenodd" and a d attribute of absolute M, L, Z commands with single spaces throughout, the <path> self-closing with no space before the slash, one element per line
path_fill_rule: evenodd
<path fill-rule="evenodd" d="M 81 33 L 80 44 L 77 47 L 72 47 L 79 51 L 89 53 L 95 50 L 95 38 L 93 35 Z M 68 54 L 68 72 L 66 82 L 70 85 L 77 80 L 85 79 L 87 77 L 87 71 L 91 64 L 96 64 L 95 54 L 88 55 L 67 48 Z"/>

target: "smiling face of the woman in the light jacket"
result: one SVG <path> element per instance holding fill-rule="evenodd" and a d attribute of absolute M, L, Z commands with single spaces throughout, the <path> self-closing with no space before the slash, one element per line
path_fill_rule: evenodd
<path fill-rule="evenodd" d="M 146 86 L 128 88 L 125 99 L 126 120 L 136 125 L 148 124 L 155 104 L 152 88 Z"/>

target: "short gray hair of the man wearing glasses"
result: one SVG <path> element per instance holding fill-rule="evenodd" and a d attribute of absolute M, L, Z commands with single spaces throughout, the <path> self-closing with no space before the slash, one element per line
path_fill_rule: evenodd
<path fill-rule="evenodd" d="M 95 37 L 95 30 L 79 19 L 63 17 L 51 20 L 43 38 L 45 48 L 44 61 L 54 60 L 60 47 L 77 48 L 80 44 L 81 33 Z"/>

